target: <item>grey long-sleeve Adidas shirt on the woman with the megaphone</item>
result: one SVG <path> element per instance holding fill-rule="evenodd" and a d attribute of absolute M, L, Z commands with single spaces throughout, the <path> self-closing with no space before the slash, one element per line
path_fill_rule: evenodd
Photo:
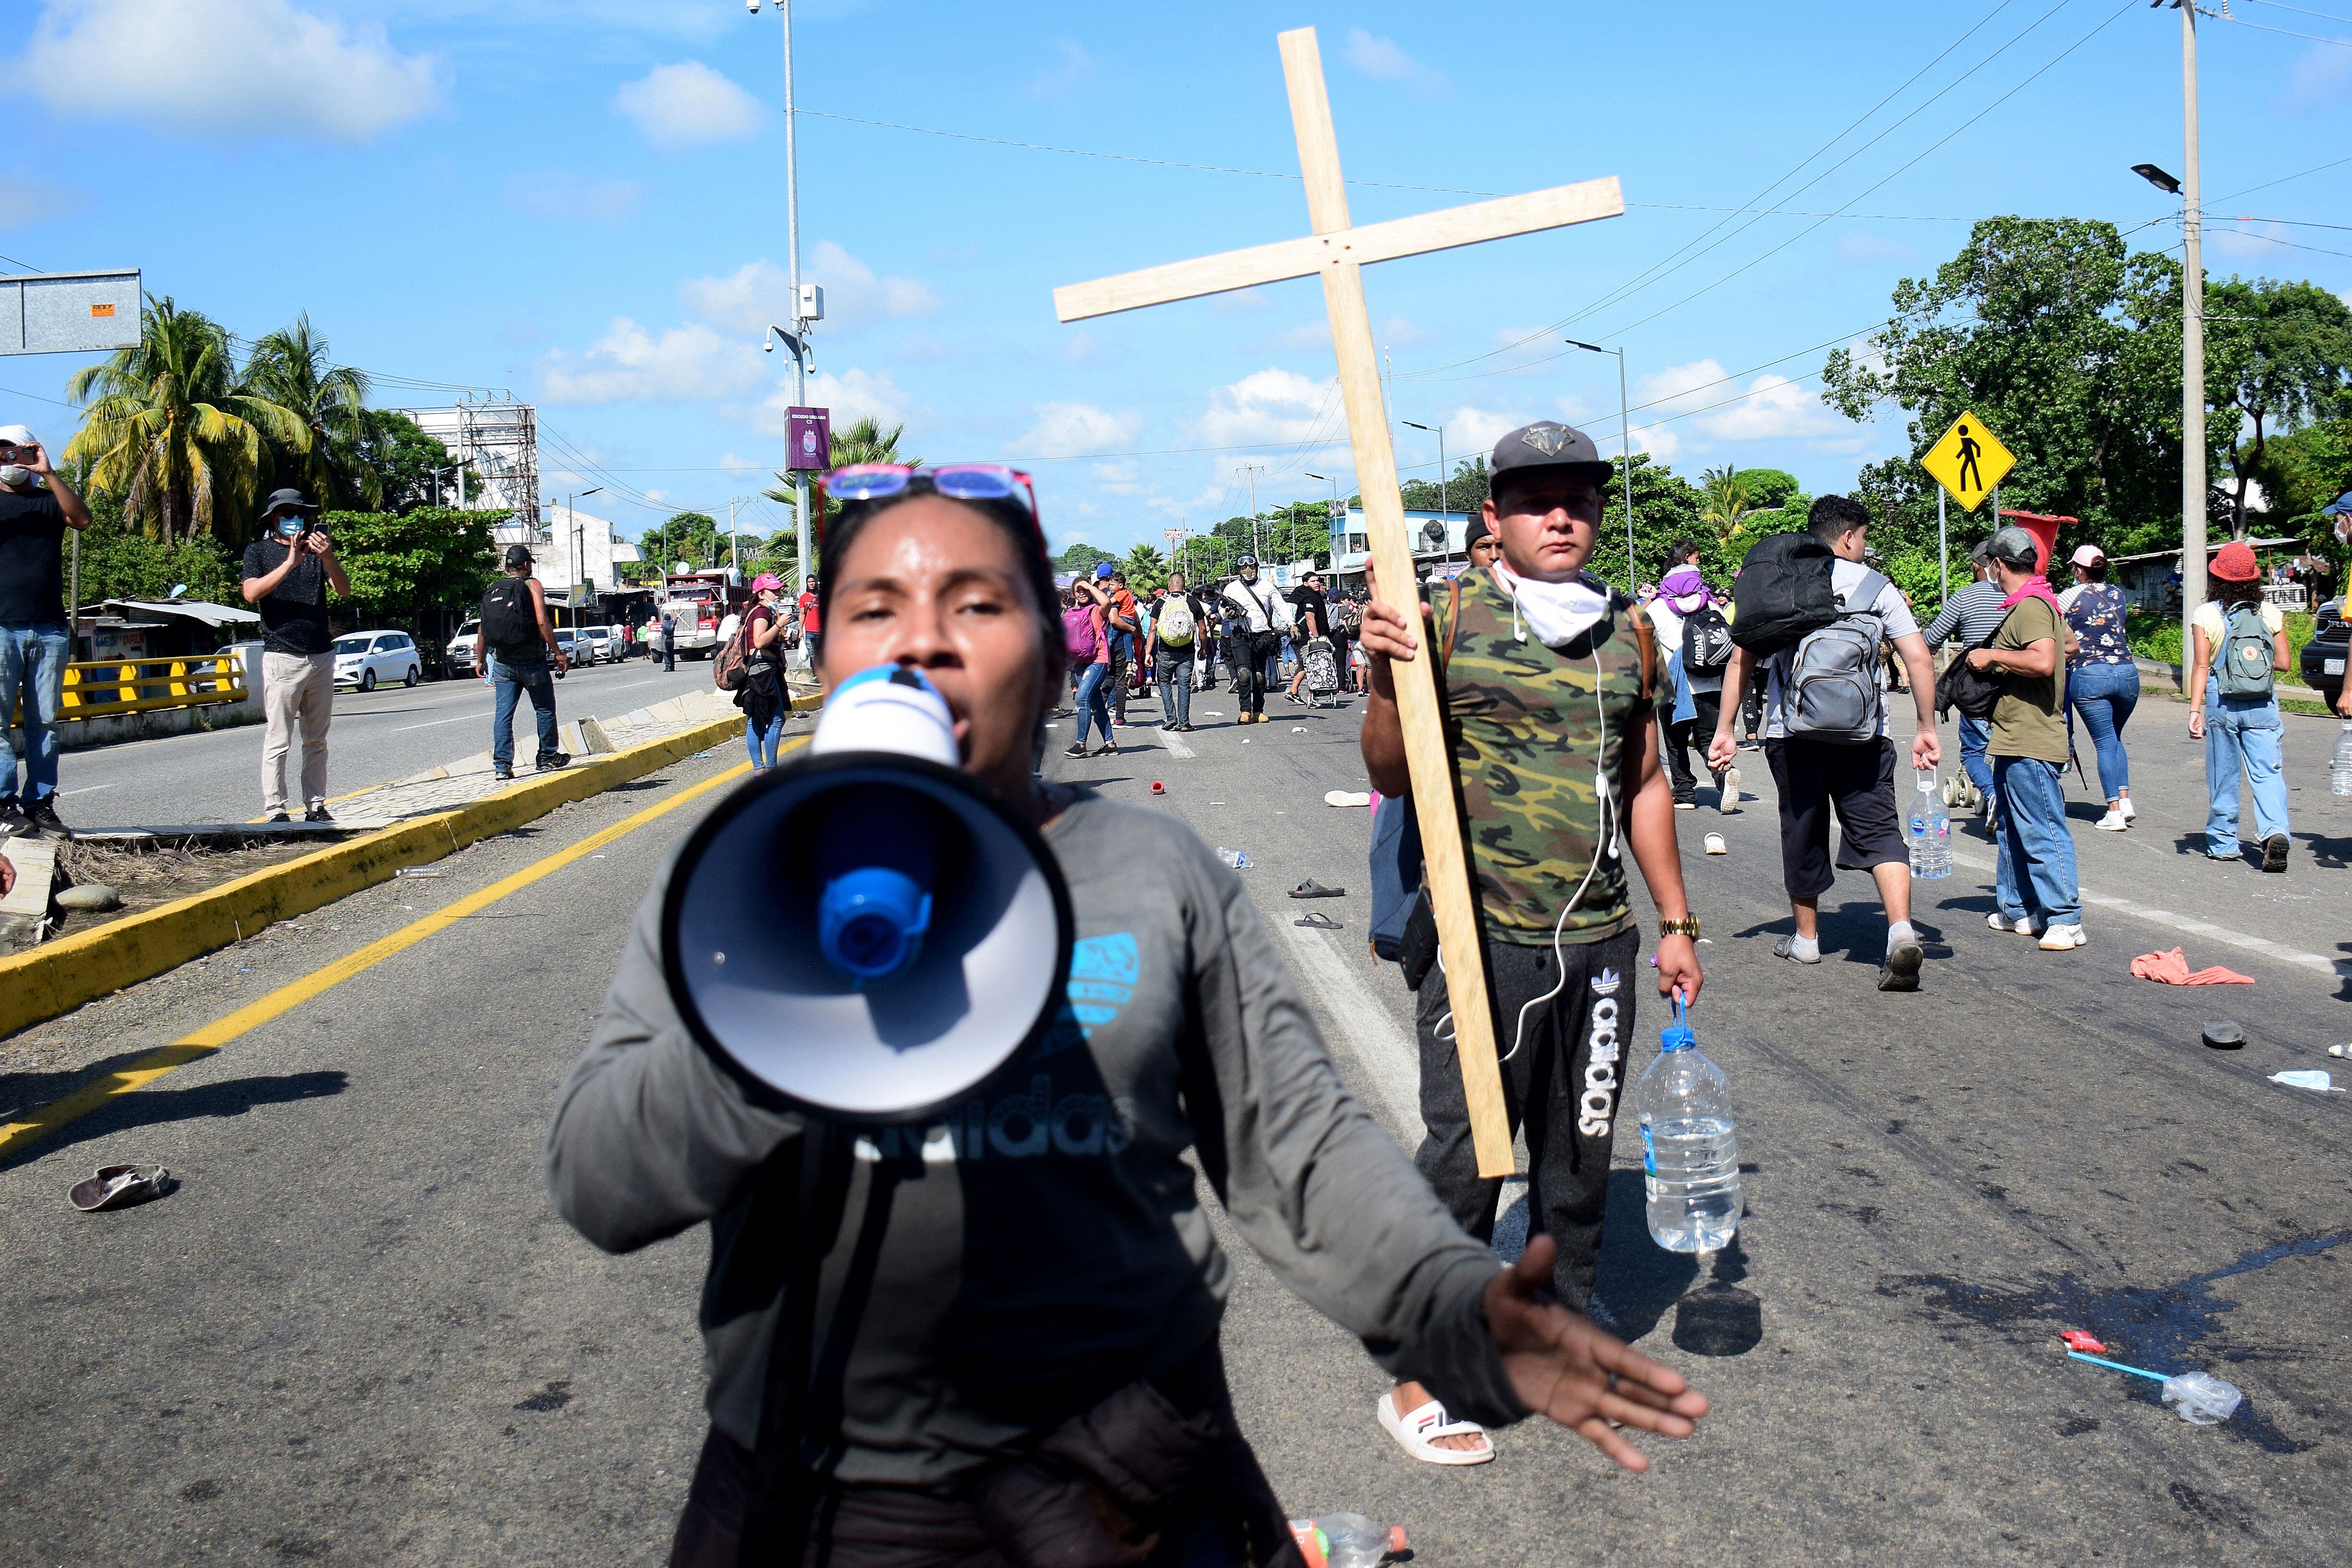
<path fill-rule="evenodd" d="M 1047 1037 L 927 1128 L 858 1140 L 818 1288 L 847 1338 L 842 1481 L 938 1486 L 1216 1333 L 1225 1211 L 1378 1361 L 1489 1425 L 1526 1410 L 1486 1331 L 1498 1267 L 1341 1084 L 1240 879 L 1176 820 L 1080 797 L 1044 830 L 1077 914 L 1070 1004 Z M 755 1107 L 694 1044 L 661 973 L 668 867 L 637 910 L 546 1175 L 607 1251 L 710 1222 L 710 1420 L 760 1436 L 781 1229 L 762 1171 L 800 1121 Z M 1214 1077 L 1188 1103 L 1183 1063 Z M 797 1161 L 795 1161 L 797 1164 Z"/>

